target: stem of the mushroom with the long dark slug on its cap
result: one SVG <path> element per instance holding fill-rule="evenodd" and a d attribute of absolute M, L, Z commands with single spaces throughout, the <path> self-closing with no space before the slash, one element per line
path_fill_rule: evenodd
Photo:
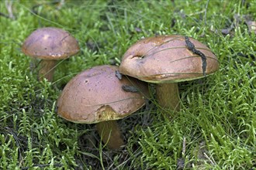
<path fill-rule="evenodd" d="M 160 104 L 161 107 L 174 111 L 180 109 L 178 83 L 158 83 L 156 89 L 158 104 Z"/>

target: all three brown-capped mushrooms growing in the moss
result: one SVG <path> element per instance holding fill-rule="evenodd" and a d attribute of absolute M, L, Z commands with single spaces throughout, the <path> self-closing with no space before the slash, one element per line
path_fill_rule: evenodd
<path fill-rule="evenodd" d="M 78 53 L 76 39 L 62 29 L 34 31 L 22 52 L 43 59 L 40 80 L 53 80 L 56 59 Z M 216 72 L 219 62 L 211 50 L 187 36 L 154 36 L 130 46 L 120 66 L 94 66 L 74 76 L 57 100 L 57 114 L 67 121 L 96 124 L 109 148 L 124 145 L 116 120 L 139 110 L 149 97 L 147 83 L 156 83 L 158 103 L 165 110 L 180 110 L 178 82 Z M 146 83 L 147 82 L 147 83 Z"/>

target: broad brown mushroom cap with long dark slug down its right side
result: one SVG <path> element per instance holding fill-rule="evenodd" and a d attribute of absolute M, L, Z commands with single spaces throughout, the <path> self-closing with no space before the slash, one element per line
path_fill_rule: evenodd
<path fill-rule="evenodd" d="M 206 56 L 206 75 L 216 72 L 219 62 L 211 50 L 190 38 L 195 49 Z M 184 36 L 140 39 L 126 51 L 120 73 L 152 83 L 171 83 L 201 78 L 202 58 L 190 51 Z"/>

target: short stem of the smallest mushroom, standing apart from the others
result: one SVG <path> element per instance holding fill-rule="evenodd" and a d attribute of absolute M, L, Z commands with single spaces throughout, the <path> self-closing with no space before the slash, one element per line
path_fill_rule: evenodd
<path fill-rule="evenodd" d="M 48 81 L 52 81 L 54 78 L 54 68 L 57 61 L 55 59 L 42 59 L 40 63 L 39 77 L 40 81 L 46 78 Z"/>

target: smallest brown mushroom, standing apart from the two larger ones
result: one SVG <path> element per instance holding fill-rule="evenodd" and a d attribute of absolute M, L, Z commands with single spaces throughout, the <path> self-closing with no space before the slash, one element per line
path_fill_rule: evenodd
<path fill-rule="evenodd" d="M 22 45 L 22 52 L 27 56 L 42 59 L 39 80 L 52 81 L 57 59 L 67 59 L 78 51 L 77 40 L 69 32 L 54 27 L 36 29 Z"/>

